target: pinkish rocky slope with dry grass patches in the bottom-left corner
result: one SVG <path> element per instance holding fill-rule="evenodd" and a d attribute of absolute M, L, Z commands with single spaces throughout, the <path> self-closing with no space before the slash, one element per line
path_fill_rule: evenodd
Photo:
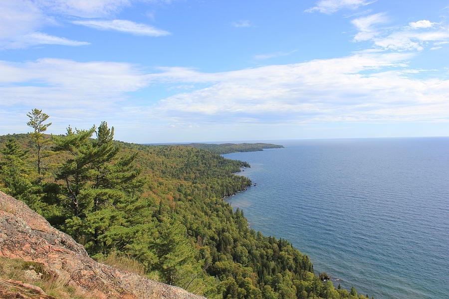
<path fill-rule="evenodd" d="M 0 276 L 8 273 L 12 278 L 29 283 L 10 280 L 11 277 L 9 280 L 0 279 L 0 298 L 8 298 L 7 295 L 27 298 L 16 297 L 16 294 L 33 294 L 35 298 L 50 299 L 51 295 L 56 296 L 56 292 L 49 281 L 59 285 L 58 295 L 65 288 L 67 295 L 77 298 L 204 298 L 95 262 L 88 257 L 82 245 L 50 226 L 23 202 L 3 192 L 0 192 L 0 240 Z M 20 266 L 15 267 L 15 273 L 10 271 L 14 264 Z M 20 270 L 23 272 L 21 277 L 18 276 Z M 33 287 L 33 284 L 42 286 L 51 295 Z"/>

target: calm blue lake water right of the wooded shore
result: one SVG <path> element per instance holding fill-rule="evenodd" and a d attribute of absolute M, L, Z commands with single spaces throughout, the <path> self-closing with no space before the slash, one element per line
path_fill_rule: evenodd
<path fill-rule="evenodd" d="M 277 141 L 230 153 L 256 186 L 228 198 L 251 228 L 376 299 L 449 298 L 449 138 Z"/>

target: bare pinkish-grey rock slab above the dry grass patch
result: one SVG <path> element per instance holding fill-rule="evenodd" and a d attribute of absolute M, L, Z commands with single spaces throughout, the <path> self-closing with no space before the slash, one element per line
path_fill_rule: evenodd
<path fill-rule="evenodd" d="M 28 206 L 0 192 L 0 256 L 41 263 L 95 298 L 204 299 L 181 288 L 99 264 L 82 245 L 52 227 Z"/>

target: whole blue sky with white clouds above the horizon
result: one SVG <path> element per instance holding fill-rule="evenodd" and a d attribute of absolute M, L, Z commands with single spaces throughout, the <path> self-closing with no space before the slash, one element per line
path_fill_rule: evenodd
<path fill-rule="evenodd" d="M 0 135 L 449 136 L 448 0 L 0 0 Z"/>

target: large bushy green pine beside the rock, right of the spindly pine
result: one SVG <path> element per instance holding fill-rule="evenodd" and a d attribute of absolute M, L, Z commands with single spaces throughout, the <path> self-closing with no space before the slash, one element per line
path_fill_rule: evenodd
<path fill-rule="evenodd" d="M 111 242 L 103 235 L 131 217 L 123 214 L 122 204 L 132 205 L 137 200 L 133 195 L 141 185 L 140 171 L 134 166 L 135 154 L 119 157 L 120 147 L 113 143 L 114 128 L 109 129 L 103 122 L 95 129 L 73 131 L 69 127 L 65 137 L 55 139 L 54 149 L 70 155 L 56 178 L 64 182 L 63 195 L 70 207 L 66 232 L 77 236 L 89 253 L 108 254 L 129 243 Z M 94 133 L 97 138 L 92 140 Z M 118 234 L 124 232 L 121 228 L 115 230 Z"/>

